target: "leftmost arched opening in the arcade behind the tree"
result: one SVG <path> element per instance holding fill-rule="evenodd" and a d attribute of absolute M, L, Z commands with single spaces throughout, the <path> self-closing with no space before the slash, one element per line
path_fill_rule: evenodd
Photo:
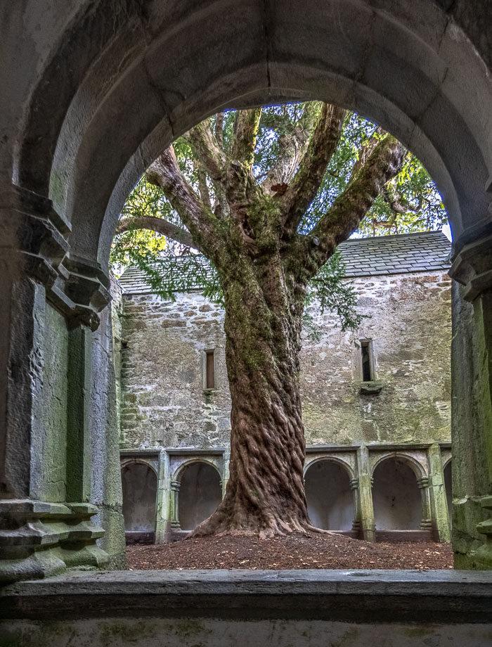
<path fill-rule="evenodd" d="M 157 476 L 145 463 L 122 468 L 124 533 L 127 544 L 153 544 Z"/>

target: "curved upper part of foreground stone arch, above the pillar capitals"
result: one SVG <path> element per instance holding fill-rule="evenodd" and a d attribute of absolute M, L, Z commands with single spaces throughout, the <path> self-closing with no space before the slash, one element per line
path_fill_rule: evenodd
<path fill-rule="evenodd" d="M 131 186 L 193 124 L 306 98 L 357 110 L 413 150 L 455 238 L 491 221 L 491 73 L 460 1 L 466 33 L 431 0 L 74 4 L 23 118 L 15 177 L 50 192 L 75 253 L 105 264 Z"/>

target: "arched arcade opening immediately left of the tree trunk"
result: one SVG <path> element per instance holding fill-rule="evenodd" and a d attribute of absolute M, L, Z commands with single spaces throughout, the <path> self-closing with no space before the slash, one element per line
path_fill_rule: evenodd
<path fill-rule="evenodd" d="M 216 468 L 197 461 L 183 468 L 179 481 L 179 525 L 181 530 L 190 531 L 221 502 L 221 479 Z"/>

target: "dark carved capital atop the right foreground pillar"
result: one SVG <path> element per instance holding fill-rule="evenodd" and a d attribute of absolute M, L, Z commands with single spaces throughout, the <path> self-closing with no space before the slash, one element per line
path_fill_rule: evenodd
<path fill-rule="evenodd" d="M 491 231 L 462 245 L 454 257 L 449 275 L 465 286 L 463 298 L 467 301 L 474 301 L 482 292 L 492 289 Z"/>

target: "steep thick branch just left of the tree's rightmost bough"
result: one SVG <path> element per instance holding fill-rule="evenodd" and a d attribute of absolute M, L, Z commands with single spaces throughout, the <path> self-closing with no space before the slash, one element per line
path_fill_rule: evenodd
<path fill-rule="evenodd" d="M 307 208 L 318 193 L 342 133 L 345 110 L 335 105 L 323 104 L 313 136 L 289 188 L 281 198 L 285 236 L 297 231 Z"/>

